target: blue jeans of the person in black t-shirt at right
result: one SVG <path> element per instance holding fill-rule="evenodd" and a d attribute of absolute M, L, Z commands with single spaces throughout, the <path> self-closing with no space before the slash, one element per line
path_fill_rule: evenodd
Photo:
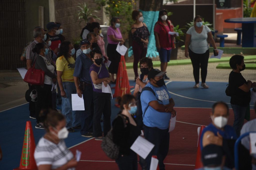
<path fill-rule="evenodd" d="M 239 137 L 240 131 L 243 126 L 243 121 L 244 121 L 244 116 L 246 113 L 247 106 L 239 106 L 239 105 L 231 104 L 231 107 L 234 112 L 233 128 L 236 131 L 237 137 Z"/>

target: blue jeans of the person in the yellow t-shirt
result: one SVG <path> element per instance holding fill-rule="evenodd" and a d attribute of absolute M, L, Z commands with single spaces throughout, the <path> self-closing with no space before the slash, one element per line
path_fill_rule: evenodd
<path fill-rule="evenodd" d="M 63 82 L 62 83 L 66 97 L 62 98 L 61 113 L 66 116 L 67 129 L 71 127 L 79 126 L 81 123 L 81 116 L 79 112 L 72 111 L 71 94 L 76 94 L 76 86 L 74 82 Z"/>

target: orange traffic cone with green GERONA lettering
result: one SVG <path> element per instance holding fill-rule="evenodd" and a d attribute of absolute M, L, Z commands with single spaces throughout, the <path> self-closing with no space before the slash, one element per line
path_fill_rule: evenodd
<path fill-rule="evenodd" d="M 35 144 L 31 122 L 27 121 L 23 147 L 21 152 L 21 158 L 20 158 L 20 164 L 19 164 L 19 167 L 15 168 L 14 170 L 18 170 L 18 169 L 36 170 L 37 169 L 36 162 L 34 159 L 35 148 L 36 148 L 36 144 Z"/>

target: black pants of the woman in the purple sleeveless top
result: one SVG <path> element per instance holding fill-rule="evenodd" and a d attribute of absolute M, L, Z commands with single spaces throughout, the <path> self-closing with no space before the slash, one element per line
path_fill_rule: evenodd
<path fill-rule="evenodd" d="M 102 136 L 100 118 L 103 113 L 103 133 L 107 135 L 111 128 L 111 94 L 110 93 L 99 93 L 93 91 L 93 103 L 94 103 L 94 114 L 93 114 L 93 136 Z"/>

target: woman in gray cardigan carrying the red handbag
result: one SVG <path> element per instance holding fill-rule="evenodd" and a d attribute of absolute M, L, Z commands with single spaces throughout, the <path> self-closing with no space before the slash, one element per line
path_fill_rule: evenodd
<path fill-rule="evenodd" d="M 39 112 L 41 109 L 48 109 L 51 102 L 51 86 L 52 83 L 57 82 L 56 74 L 54 73 L 54 66 L 45 58 L 48 54 L 48 46 L 44 43 L 37 43 L 32 50 L 37 54 L 35 61 L 35 69 L 41 69 L 45 72 L 44 85 L 35 85 L 37 91 L 37 101 L 35 102 L 36 111 L 36 128 L 44 129 L 44 124 L 39 119 Z"/>

